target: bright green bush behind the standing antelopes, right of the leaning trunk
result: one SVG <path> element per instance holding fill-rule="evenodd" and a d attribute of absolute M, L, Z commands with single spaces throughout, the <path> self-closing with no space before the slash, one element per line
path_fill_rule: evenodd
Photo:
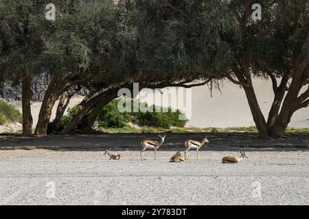
<path fill-rule="evenodd" d="M 98 116 L 99 127 L 123 128 L 126 123 L 134 122 L 147 127 L 170 129 L 171 127 L 184 127 L 187 123 L 187 120 L 179 120 L 180 110 L 173 112 L 170 107 L 159 107 L 159 112 L 155 112 L 155 106 L 150 106 L 153 112 L 133 112 L 133 106 L 141 103 L 132 100 L 132 112 L 121 113 L 117 109 L 118 103 L 119 99 L 115 99 L 101 110 Z M 148 107 L 146 103 L 142 104 Z"/>

